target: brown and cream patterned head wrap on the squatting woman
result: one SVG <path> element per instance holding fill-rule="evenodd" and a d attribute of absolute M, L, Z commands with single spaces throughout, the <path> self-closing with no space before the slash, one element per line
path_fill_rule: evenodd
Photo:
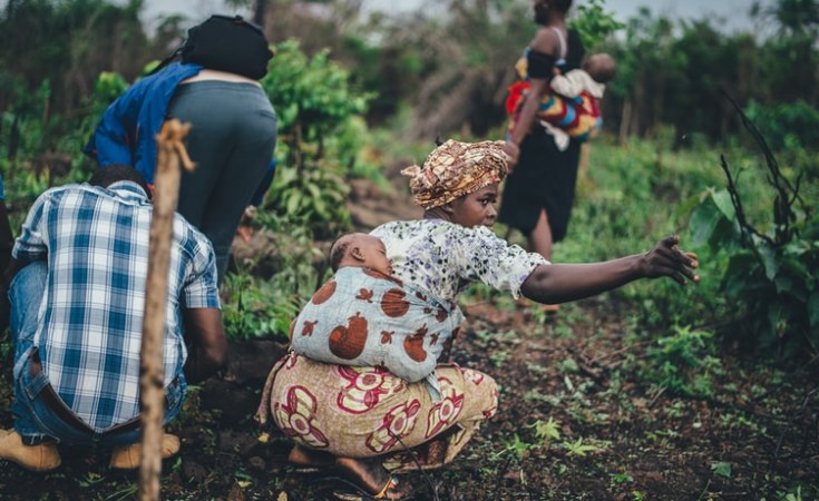
<path fill-rule="evenodd" d="M 459 143 L 452 139 L 433 149 L 422 166 L 401 174 L 410 178 L 416 204 L 439 207 L 477 191 L 506 176 L 504 141 Z"/>

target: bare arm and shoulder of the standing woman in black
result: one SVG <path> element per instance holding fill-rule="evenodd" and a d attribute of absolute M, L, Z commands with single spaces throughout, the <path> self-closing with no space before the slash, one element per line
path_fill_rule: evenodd
<path fill-rule="evenodd" d="M 558 50 L 558 43 L 559 40 L 552 30 L 540 29 L 529 45 L 529 49 L 539 55 L 554 55 Z M 530 87 L 526 94 L 526 100 L 518 115 L 515 130 L 506 140 L 506 146 L 504 147 L 504 150 L 509 156 L 510 167 L 517 164 L 520 144 L 532 130 L 537 109 L 540 107 L 540 99 L 549 90 L 552 68 L 542 68 L 540 71 L 535 70 L 535 72 L 529 71 L 529 77 Z"/>

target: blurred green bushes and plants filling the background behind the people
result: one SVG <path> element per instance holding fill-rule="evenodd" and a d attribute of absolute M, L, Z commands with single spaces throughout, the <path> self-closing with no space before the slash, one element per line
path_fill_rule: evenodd
<path fill-rule="evenodd" d="M 251 222 L 269 235 L 267 249 L 234 263 L 222 291 L 224 322 L 234 338 L 283 341 L 300 305 L 328 275 L 329 242 L 354 224 L 345 200 L 355 195 L 355 180 L 367 178 L 383 196 L 402 196 L 398 169 L 422 161 L 436 137 L 500 137 L 511 65 L 536 27 L 525 0 L 442 0 L 435 13 L 376 16 L 364 14 L 358 0 L 235 3 L 251 8 L 276 48 L 262 85 L 279 112 L 281 140 L 276 178 Z M 769 421 L 810 422 L 806 436 L 815 433 L 808 403 L 816 391 L 800 399 L 805 387 L 781 385 L 786 377 L 769 364 L 815 374 L 819 354 L 819 2 L 749 6 L 754 19 L 774 27 L 772 37 L 725 33 L 708 18 L 680 21 L 650 9 L 620 26 L 604 1 L 576 3 L 573 22 L 587 49 L 612 52 L 620 71 L 603 102 L 605 134 L 585 150 L 569 235 L 556 246 L 555 261 L 637 253 L 679 233 L 700 253 L 703 277 L 695 287 L 638 283 L 599 298 L 615 312 L 616 343 L 624 346 L 612 352 L 625 351 L 605 393 L 622 397 L 618 385 L 632 381 L 621 381 L 621 369 L 636 371 L 652 402 L 660 395 L 686 399 L 661 420 L 679 420 L 680 426 L 699 423 L 703 402 L 735 396 L 721 425 L 761 442 L 776 436 L 757 428 L 759 416 L 745 413 L 743 402 L 786 393 L 800 401 L 787 407 L 794 415 L 781 416 L 784 411 L 770 402 L 776 409 Z M 2 7 L 0 171 L 13 228 L 47 187 L 88 177 L 95 166 L 80 151 L 100 114 L 184 37 L 189 22 L 179 17 L 147 33 L 142 9 L 139 0 L 9 0 Z M 507 228 L 496 230 L 525 242 Z M 479 286 L 465 301 L 518 308 Z M 576 326 L 599 328 L 583 325 L 574 305 L 554 325 L 533 315 L 557 340 L 571 337 Z M 515 347 L 514 333 L 478 332 L 474 342 L 480 362 L 498 369 L 510 356 L 506 348 Z M 728 352 L 751 364 L 727 375 Z M 9 356 L 8 338 L 0 341 L 0 353 Z M 555 363 L 573 377 L 584 371 L 571 357 Z M 569 461 L 548 473 L 559 480 L 569 465 L 575 469 L 572 461 L 589 453 L 585 465 L 596 471 L 594 448 L 601 444 L 581 442 L 568 424 L 596 419 L 596 403 L 584 394 L 593 384 L 577 391 L 562 384 L 548 395 L 533 386 L 524 400 L 565 411 L 566 426 L 544 416 L 525 431 L 498 431 L 476 445 L 487 452 L 481 461 L 523 462 L 546 454 L 537 443 L 565 436 L 560 448 Z M 8 394 L 0 385 L 0 395 Z M 696 415 L 683 422 L 688 405 Z M 674 430 L 661 431 L 650 441 L 674 438 Z M 711 468 L 730 475 L 725 464 Z M 770 482 L 776 499 L 819 495 L 819 485 L 802 491 L 787 475 L 760 478 L 753 481 Z M 620 472 L 611 481 L 628 479 Z"/>

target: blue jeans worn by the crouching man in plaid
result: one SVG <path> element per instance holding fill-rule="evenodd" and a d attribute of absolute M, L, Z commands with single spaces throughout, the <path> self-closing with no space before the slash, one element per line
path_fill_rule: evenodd
<path fill-rule="evenodd" d="M 11 411 L 17 415 L 14 430 L 26 444 L 35 445 L 56 440 L 70 445 L 97 444 L 104 448 L 128 445 L 139 441 L 139 429 L 125 432 L 90 432 L 64 422 L 42 401 L 41 392 L 49 384 L 45 372 L 31 375 L 31 353 L 38 327 L 38 312 L 46 293 L 48 268 L 45 262 L 22 268 L 9 287 L 11 317 L 9 331 L 14 343 L 14 400 Z M 165 423 L 182 410 L 186 390 L 185 377 L 165 389 Z"/>

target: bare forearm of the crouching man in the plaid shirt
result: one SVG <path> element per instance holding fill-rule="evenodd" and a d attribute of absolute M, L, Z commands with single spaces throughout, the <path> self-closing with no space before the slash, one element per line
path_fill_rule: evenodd
<path fill-rule="evenodd" d="M 191 308 L 183 311 L 185 340 L 188 343 L 185 377 L 192 384 L 206 380 L 227 360 L 227 340 L 222 328 L 222 314 L 217 308 Z"/>

